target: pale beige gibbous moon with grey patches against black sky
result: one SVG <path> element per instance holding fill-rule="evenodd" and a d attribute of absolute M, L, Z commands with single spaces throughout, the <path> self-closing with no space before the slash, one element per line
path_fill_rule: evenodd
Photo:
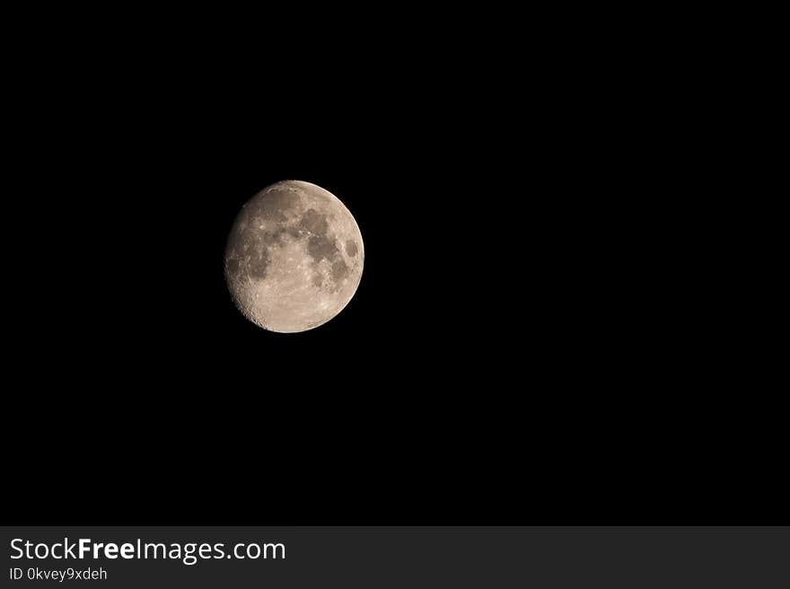
<path fill-rule="evenodd" d="M 241 207 L 225 249 L 225 278 L 247 319 L 281 333 L 312 330 L 359 286 L 362 235 L 327 190 L 285 180 Z"/>

